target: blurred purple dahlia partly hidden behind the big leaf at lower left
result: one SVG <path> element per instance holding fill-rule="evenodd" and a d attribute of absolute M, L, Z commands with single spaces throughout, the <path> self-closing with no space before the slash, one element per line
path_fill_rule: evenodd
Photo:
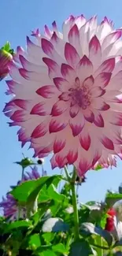
<path fill-rule="evenodd" d="M 45 175 L 46 173 L 42 173 L 42 176 Z M 26 172 L 24 174 L 24 179 L 22 182 L 26 180 L 36 180 L 40 178 L 40 174 L 36 168 L 31 168 L 31 173 Z M 17 185 L 19 185 L 21 181 L 18 181 Z M 13 188 L 13 186 L 11 186 Z M 25 218 L 26 217 L 26 208 L 25 207 L 19 207 L 17 205 L 17 201 L 15 198 L 13 198 L 13 195 L 7 194 L 6 198 L 2 197 L 2 202 L 0 202 L 0 207 L 3 210 L 3 215 L 4 217 L 9 217 L 9 219 L 12 220 L 17 220 L 18 218 Z"/>

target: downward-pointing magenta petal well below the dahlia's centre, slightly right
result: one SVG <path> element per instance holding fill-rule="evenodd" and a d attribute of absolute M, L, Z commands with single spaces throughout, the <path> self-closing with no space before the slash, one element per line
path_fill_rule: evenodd
<path fill-rule="evenodd" d="M 91 147 L 91 136 L 85 128 L 83 128 L 83 131 L 79 134 L 79 142 L 84 150 L 89 150 Z"/>

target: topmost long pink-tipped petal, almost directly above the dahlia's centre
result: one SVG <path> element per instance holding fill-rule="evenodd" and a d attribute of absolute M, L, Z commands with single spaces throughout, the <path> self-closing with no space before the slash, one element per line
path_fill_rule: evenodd
<path fill-rule="evenodd" d="M 79 58 L 81 58 L 82 54 L 79 41 L 79 29 L 76 24 L 74 24 L 74 26 L 70 29 L 70 32 L 68 33 L 68 41 L 72 46 L 76 48 L 77 53 L 79 54 Z"/>

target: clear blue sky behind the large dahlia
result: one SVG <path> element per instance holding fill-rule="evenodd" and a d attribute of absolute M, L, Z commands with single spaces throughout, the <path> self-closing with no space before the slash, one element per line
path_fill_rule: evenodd
<path fill-rule="evenodd" d="M 107 16 L 113 20 L 115 27 L 122 27 L 122 1 L 121 0 L 1 0 L 0 14 L 0 46 L 10 41 L 13 48 L 18 45 L 25 46 L 26 35 L 31 34 L 34 28 L 51 26 L 54 20 L 59 28 L 63 20 L 70 14 L 79 15 L 83 13 L 87 18 L 98 15 L 98 20 Z M 22 152 L 31 158 L 32 150 L 28 145 L 21 149 L 17 141 L 17 128 L 9 128 L 9 121 L 2 109 L 9 98 L 5 95 L 6 82 L 0 83 L 0 198 L 6 195 L 10 184 L 16 184 L 20 178 L 20 167 L 13 164 L 20 161 Z M 45 169 L 49 174 L 60 173 L 56 169 L 51 171 L 50 161 L 45 161 Z M 118 160 L 117 168 L 104 169 L 100 172 L 87 173 L 87 183 L 79 189 L 80 201 L 85 202 L 91 199 L 104 198 L 107 188 L 117 189 L 122 181 L 122 162 Z"/>

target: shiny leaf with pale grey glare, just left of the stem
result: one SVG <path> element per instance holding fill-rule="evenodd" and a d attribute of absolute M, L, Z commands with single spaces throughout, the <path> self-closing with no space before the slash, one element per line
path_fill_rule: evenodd
<path fill-rule="evenodd" d="M 47 219 L 42 227 L 43 232 L 66 232 L 68 231 L 68 224 L 58 217 L 50 217 Z"/>

